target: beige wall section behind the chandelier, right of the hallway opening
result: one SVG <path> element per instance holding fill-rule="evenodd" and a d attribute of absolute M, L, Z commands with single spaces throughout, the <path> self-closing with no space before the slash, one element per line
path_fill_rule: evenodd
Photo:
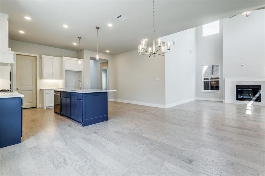
<path fill-rule="evenodd" d="M 113 56 L 115 101 L 156 107 L 165 105 L 165 58 L 139 55 L 137 50 Z M 160 78 L 160 81 L 156 81 Z"/>

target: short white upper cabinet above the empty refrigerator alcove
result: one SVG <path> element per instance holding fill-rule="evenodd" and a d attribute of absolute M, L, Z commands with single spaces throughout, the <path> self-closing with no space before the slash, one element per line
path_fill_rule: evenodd
<path fill-rule="evenodd" d="M 62 60 L 64 61 L 63 70 L 83 71 L 83 59 L 81 59 L 81 63 L 78 62 L 79 59 L 71 57 L 62 57 Z"/>

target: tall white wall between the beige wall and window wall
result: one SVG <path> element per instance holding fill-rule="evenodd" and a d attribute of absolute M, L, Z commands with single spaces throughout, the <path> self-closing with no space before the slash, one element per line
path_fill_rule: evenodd
<path fill-rule="evenodd" d="M 176 41 L 176 46 L 172 46 L 171 52 L 165 54 L 166 106 L 195 100 L 196 29 L 167 35 L 163 40 Z"/>

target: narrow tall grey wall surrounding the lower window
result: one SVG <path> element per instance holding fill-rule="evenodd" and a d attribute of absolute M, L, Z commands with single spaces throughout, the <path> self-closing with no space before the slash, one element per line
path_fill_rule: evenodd
<path fill-rule="evenodd" d="M 203 65 L 220 65 L 220 93 L 201 92 Z M 196 97 L 222 100 L 223 84 L 223 20 L 220 20 L 217 34 L 203 37 L 202 26 L 196 27 Z"/>

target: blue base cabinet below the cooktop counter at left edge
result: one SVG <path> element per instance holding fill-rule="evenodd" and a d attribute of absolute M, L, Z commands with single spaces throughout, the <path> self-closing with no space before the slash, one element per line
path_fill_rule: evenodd
<path fill-rule="evenodd" d="M 21 97 L 0 99 L 0 148 L 21 143 Z"/>

